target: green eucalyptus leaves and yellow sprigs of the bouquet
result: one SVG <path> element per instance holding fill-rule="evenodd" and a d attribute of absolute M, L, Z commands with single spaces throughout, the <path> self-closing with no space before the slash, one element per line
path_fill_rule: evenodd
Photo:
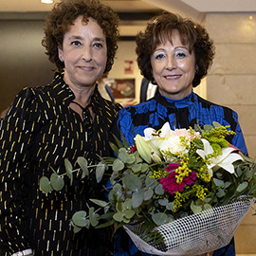
<path fill-rule="evenodd" d="M 232 134 L 227 127 L 216 122 L 213 126 L 205 125 L 203 129 L 196 125 L 195 130 L 210 141 L 215 155 L 221 154 L 222 148 L 228 143 L 226 137 Z M 194 138 L 186 157 L 182 158 L 174 154 L 172 156 L 179 162 L 186 163 L 183 172 L 187 170 L 196 172 L 196 186 L 186 186 L 183 192 L 171 194 L 164 191 L 159 179 L 165 176 L 164 169 L 172 161 L 146 162 L 137 151 L 130 152 L 124 137 L 122 141 L 124 146 L 117 137 L 116 144 L 110 143 L 118 155 L 117 158 L 99 156 L 99 164 L 88 166 L 87 160 L 79 157 L 76 162 L 79 166 L 77 169 L 64 159 L 65 174 L 57 174 L 53 170 L 49 178 L 43 176 L 40 179 L 40 188 L 47 193 L 61 191 L 64 188 L 64 175 L 72 184 L 74 173 L 82 172 L 83 179 L 89 176 L 90 168 L 95 168 L 97 182 L 101 182 L 105 171 L 108 168 L 112 169 L 110 176 L 112 187 L 107 188 L 108 200 L 90 198 L 90 203 L 95 207 L 88 206 L 87 210 L 78 211 L 72 217 L 71 223 L 75 232 L 79 232 L 82 228 L 89 229 L 90 226 L 100 229 L 116 223 L 115 227 L 119 229 L 126 224 L 136 224 L 140 226 L 139 233 L 145 241 L 156 242 L 160 237 L 152 230 L 157 226 L 192 213 L 226 205 L 243 194 L 256 196 L 255 161 L 247 156 L 242 155 L 243 160 L 233 163 L 234 174 L 218 166 L 212 169 L 213 176 L 209 177 L 207 160 L 198 159 L 196 154 L 196 150 L 204 149 L 204 145 L 199 138 Z"/>

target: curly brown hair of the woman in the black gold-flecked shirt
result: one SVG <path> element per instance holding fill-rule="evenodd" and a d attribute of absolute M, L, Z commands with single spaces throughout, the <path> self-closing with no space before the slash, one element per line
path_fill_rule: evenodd
<path fill-rule="evenodd" d="M 67 0 L 55 4 L 46 17 L 45 37 L 42 45 L 46 47 L 46 55 L 59 71 L 64 70 L 64 63 L 59 60 L 58 46 L 63 46 L 64 33 L 79 17 L 87 22 L 88 18 L 97 21 L 106 36 L 107 63 L 104 73 L 108 72 L 118 49 L 119 16 L 110 7 L 104 6 L 99 0 Z"/>

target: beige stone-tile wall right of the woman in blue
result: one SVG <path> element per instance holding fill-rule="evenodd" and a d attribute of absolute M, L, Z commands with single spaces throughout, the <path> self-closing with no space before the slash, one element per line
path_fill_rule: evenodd
<path fill-rule="evenodd" d="M 206 27 L 216 46 L 207 77 L 207 99 L 239 115 L 249 155 L 256 155 L 256 16 L 211 13 Z M 256 206 L 254 206 L 256 207 Z M 256 216 L 251 210 L 235 234 L 237 253 L 256 253 Z"/>

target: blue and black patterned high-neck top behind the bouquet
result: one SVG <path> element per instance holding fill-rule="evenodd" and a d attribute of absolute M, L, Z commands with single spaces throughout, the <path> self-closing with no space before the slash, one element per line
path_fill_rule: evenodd
<path fill-rule="evenodd" d="M 247 155 L 247 146 L 237 113 L 228 107 L 206 101 L 193 92 L 182 100 L 171 100 L 157 94 L 149 101 L 121 109 L 118 127 L 129 144 L 132 145 L 137 134 L 144 136 L 145 128 L 152 127 L 158 130 L 167 121 L 173 130 L 175 128 L 194 128 L 196 123 L 200 126 L 212 124 L 212 121 L 217 121 L 224 126 L 229 125 L 230 130 L 236 133 L 234 136 L 227 137 L 229 143 Z M 119 231 L 116 236 L 114 256 L 126 255 L 149 256 L 149 254 L 139 252 L 128 235 Z M 216 250 L 213 255 L 235 255 L 233 240 L 228 247 Z"/>

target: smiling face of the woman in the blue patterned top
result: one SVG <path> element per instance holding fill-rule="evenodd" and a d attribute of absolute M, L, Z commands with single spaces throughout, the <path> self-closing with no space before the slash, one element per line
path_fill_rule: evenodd
<path fill-rule="evenodd" d="M 159 92 L 167 98 L 180 100 L 192 92 L 195 58 L 189 46 L 182 45 L 176 30 L 172 33 L 172 43 L 166 40 L 156 46 L 151 64 Z"/>

